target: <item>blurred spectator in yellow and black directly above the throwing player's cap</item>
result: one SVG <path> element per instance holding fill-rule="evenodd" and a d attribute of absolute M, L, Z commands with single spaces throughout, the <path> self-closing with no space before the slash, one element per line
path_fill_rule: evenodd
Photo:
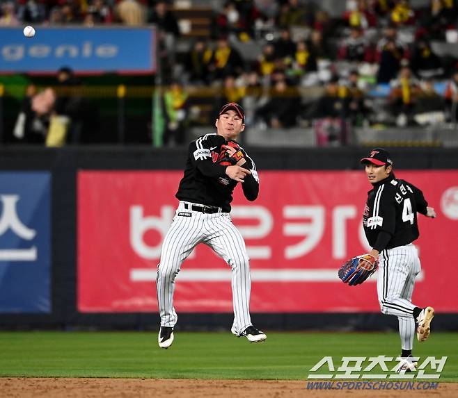
<path fill-rule="evenodd" d="M 227 38 L 219 38 L 210 62 L 210 72 L 214 80 L 221 80 L 230 74 L 242 74 L 244 63 L 239 51 L 229 45 Z"/>

